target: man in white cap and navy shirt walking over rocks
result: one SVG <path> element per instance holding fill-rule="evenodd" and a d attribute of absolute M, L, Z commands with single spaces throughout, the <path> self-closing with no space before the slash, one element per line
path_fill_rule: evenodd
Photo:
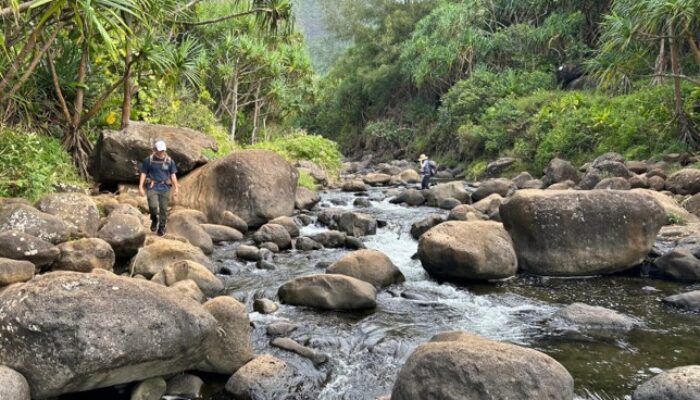
<path fill-rule="evenodd" d="M 139 194 L 147 194 L 148 211 L 151 214 L 151 232 L 158 231 L 158 236 L 165 235 L 165 225 L 168 221 L 168 203 L 170 188 L 173 196 L 179 192 L 177 183 L 177 167 L 175 161 L 165 153 L 165 142 L 156 141 L 153 154 L 146 157 L 141 164 L 139 175 Z M 144 184 L 147 190 L 144 191 Z"/>

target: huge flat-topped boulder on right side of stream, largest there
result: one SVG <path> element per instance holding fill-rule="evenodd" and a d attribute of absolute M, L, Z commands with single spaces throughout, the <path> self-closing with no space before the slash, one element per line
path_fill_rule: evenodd
<path fill-rule="evenodd" d="M 520 267 L 538 275 L 607 274 L 638 265 L 666 222 L 655 200 L 617 190 L 523 190 L 500 214 Z"/>

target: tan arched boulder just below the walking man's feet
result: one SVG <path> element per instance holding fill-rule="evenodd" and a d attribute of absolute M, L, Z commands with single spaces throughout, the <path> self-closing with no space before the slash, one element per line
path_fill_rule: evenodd
<path fill-rule="evenodd" d="M 131 261 L 131 270 L 134 274 L 141 274 L 147 278 L 162 271 L 168 265 L 177 261 L 194 261 L 204 265 L 214 272 L 214 266 L 199 247 L 179 240 L 158 238 L 139 249 Z"/>

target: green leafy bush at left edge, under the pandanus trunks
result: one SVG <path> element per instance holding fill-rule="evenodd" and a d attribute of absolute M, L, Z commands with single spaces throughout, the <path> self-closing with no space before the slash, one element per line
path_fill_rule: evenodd
<path fill-rule="evenodd" d="M 33 201 L 58 183 L 86 186 L 57 139 L 0 127 L 0 197 Z"/>

